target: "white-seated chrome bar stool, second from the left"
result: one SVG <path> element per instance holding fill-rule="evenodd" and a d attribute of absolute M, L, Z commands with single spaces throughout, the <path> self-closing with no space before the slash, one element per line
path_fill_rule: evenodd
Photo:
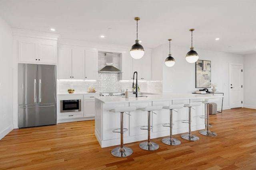
<path fill-rule="evenodd" d="M 148 141 L 140 143 L 139 147 L 141 149 L 157 150 L 159 148 L 158 144 L 156 144 L 154 142 L 150 142 L 150 129 L 153 128 L 153 126 L 150 125 L 150 117 L 151 117 L 150 113 L 155 111 L 155 110 L 161 110 L 162 108 L 163 108 L 163 106 L 146 106 L 144 108 L 137 109 L 137 110 L 141 110 L 141 111 L 148 111 L 148 125 L 140 127 L 140 129 L 148 130 Z M 147 128 L 144 128 L 144 127 L 147 127 Z"/>

